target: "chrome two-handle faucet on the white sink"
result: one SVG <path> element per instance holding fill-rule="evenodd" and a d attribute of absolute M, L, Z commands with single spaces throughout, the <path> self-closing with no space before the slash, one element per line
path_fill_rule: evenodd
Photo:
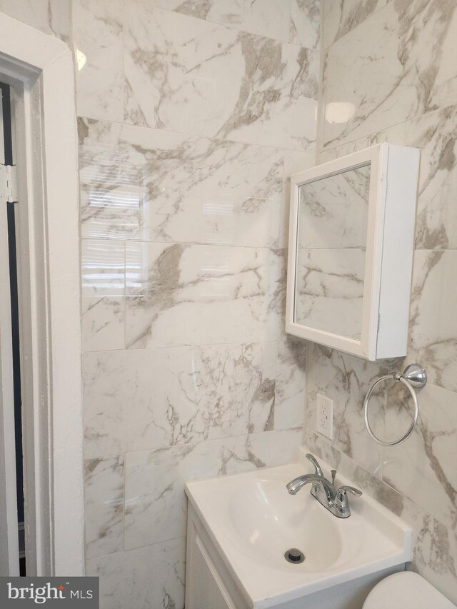
<path fill-rule="evenodd" d="M 360 497 L 361 490 L 353 486 L 343 485 L 338 490 L 335 490 L 336 470 L 331 470 L 331 482 L 325 478 L 322 473 L 321 465 L 317 459 L 310 453 L 306 458 L 314 465 L 315 473 L 306 473 L 299 475 L 298 478 L 293 478 L 286 484 L 286 488 L 291 495 L 296 495 L 298 490 L 306 484 L 312 484 L 311 495 L 318 500 L 324 508 L 329 510 L 337 518 L 348 518 L 351 515 L 349 509 L 348 493 L 352 493 L 356 497 Z"/>

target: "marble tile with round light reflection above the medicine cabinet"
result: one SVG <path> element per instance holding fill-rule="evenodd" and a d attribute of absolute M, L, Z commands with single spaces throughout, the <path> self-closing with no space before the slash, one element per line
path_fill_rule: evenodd
<path fill-rule="evenodd" d="M 325 146 L 361 138 L 416 115 L 416 74 L 401 78 L 398 46 L 398 16 L 391 4 L 326 51 Z"/>

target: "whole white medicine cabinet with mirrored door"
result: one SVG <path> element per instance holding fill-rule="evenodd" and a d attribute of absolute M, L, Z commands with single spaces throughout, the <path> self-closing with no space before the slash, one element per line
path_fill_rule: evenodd
<path fill-rule="evenodd" d="M 286 332 L 406 355 L 419 155 L 378 144 L 291 177 Z"/>

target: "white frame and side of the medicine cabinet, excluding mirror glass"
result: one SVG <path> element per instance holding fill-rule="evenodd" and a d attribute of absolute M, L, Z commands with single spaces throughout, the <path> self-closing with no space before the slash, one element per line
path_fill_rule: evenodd
<path fill-rule="evenodd" d="M 378 144 L 291 177 L 286 332 L 376 361 L 406 356 L 419 169 L 418 149 Z M 361 340 L 294 321 L 299 187 L 370 165 Z"/>

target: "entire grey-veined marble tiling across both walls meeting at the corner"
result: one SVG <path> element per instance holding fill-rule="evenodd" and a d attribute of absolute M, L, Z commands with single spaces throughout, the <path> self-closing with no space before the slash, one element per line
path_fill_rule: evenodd
<path fill-rule="evenodd" d="M 321 6 L 319 6 L 321 4 Z M 318 82 L 319 11 L 323 16 Z M 441 0 L 0 0 L 77 66 L 86 564 L 102 607 L 184 604 L 184 480 L 305 441 L 416 531 L 411 568 L 457 602 L 457 6 Z M 408 356 L 283 334 L 288 176 L 418 146 Z M 221 322 L 221 314 L 224 322 Z M 385 371 L 430 378 L 407 443 L 364 431 Z M 313 433 L 316 392 L 335 438 Z M 373 426 L 407 425 L 401 396 Z"/>

